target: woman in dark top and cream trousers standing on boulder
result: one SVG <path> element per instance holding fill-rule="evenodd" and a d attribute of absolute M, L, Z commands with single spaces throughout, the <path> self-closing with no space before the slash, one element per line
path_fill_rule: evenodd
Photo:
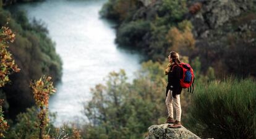
<path fill-rule="evenodd" d="M 179 54 L 171 51 L 168 56 L 169 64 L 166 67 L 165 74 L 168 75 L 168 85 L 166 86 L 166 106 L 168 109 L 168 118 L 166 123 L 170 128 L 181 128 L 181 100 L 180 95 L 182 87 L 179 83 L 182 78 L 182 69 L 179 67 L 181 61 L 179 60 Z M 173 107 L 176 111 L 176 120 L 173 118 Z"/>

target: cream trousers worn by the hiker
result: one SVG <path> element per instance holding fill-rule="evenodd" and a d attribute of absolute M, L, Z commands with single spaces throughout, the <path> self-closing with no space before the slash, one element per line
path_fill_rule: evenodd
<path fill-rule="evenodd" d="M 165 100 L 165 104 L 168 109 L 168 116 L 173 118 L 173 107 L 176 111 L 176 120 L 181 121 L 181 99 L 180 95 L 176 95 L 176 98 L 173 98 L 171 95 L 173 91 L 169 90 L 168 95 Z"/>

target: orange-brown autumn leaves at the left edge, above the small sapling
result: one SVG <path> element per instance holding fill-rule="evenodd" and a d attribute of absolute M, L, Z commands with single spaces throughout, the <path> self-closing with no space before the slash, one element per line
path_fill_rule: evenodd
<path fill-rule="evenodd" d="M 14 59 L 12 59 L 12 54 L 7 50 L 9 46 L 8 43 L 13 43 L 15 39 L 15 34 L 9 27 L 3 26 L 0 29 L 0 87 L 4 86 L 9 82 L 9 76 L 13 72 L 19 72 L 20 69 L 15 64 Z"/>

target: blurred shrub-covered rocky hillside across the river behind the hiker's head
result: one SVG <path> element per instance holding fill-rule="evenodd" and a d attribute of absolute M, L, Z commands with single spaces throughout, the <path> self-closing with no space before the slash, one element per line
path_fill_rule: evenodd
<path fill-rule="evenodd" d="M 121 47 L 140 49 L 153 61 L 174 50 L 199 61 L 202 74 L 213 68 L 217 77 L 256 75 L 255 1 L 111 0 L 101 15 L 119 23 Z"/>

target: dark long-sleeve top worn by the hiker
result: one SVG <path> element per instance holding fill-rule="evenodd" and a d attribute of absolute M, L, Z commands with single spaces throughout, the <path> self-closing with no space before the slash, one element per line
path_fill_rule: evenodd
<path fill-rule="evenodd" d="M 177 64 L 174 64 L 168 73 L 168 85 L 166 86 L 166 96 L 168 95 L 169 90 L 173 91 L 173 98 L 176 98 L 176 95 L 181 94 L 182 87 L 180 84 L 180 79 L 182 78 L 182 75 L 183 70 L 181 69 L 181 67 L 179 67 L 179 65 Z"/>

